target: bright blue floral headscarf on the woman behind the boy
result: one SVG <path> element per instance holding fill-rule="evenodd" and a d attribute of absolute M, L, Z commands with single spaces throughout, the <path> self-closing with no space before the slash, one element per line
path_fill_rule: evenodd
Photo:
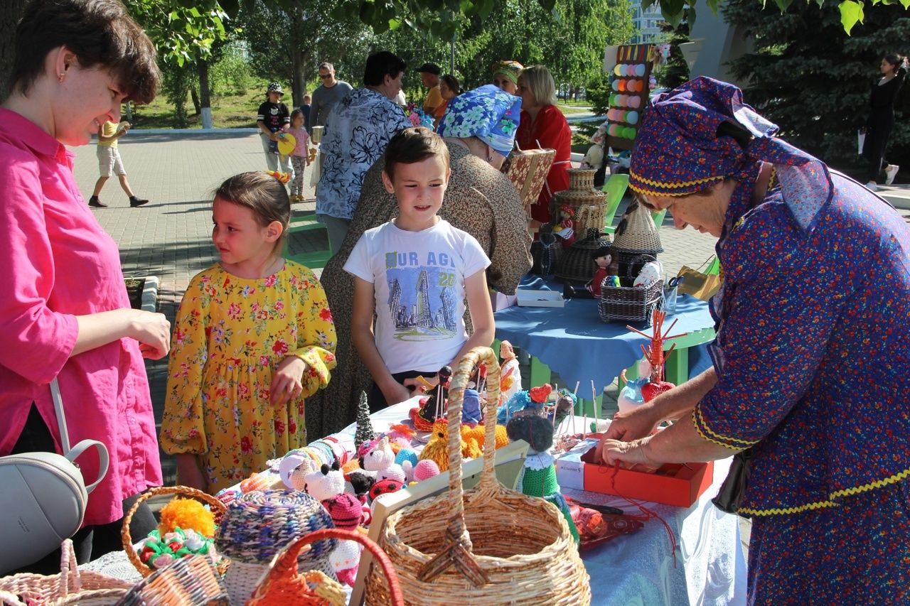
<path fill-rule="evenodd" d="M 456 96 L 446 107 L 439 127 L 441 136 L 476 136 L 508 156 L 515 144 L 521 116 L 521 97 L 499 86 L 485 85 Z"/>

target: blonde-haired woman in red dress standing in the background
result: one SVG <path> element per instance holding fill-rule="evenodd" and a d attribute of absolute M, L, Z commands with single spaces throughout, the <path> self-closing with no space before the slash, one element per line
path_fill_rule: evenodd
<path fill-rule="evenodd" d="M 521 96 L 521 124 L 516 139 L 521 149 L 551 147 L 556 150 L 547 183 L 541 189 L 537 203 L 531 205 L 531 217 L 550 223 L 550 201 L 558 191 L 569 188 L 571 162 L 571 128 L 556 107 L 556 84 L 550 70 L 531 66 L 518 76 Z"/>

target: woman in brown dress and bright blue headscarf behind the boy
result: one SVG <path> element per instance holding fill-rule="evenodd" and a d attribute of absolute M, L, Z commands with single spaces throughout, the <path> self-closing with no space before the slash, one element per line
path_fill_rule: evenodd
<path fill-rule="evenodd" d="M 477 238 L 490 258 L 487 282 L 513 294 L 531 268 L 531 238 L 518 192 L 499 168 L 512 148 L 520 119 L 521 99 L 486 85 L 455 97 L 440 124 L 449 147 L 451 177 L 440 217 Z M 338 254 L 329 259 L 319 278 L 339 335 L 338 367 L 329 387 L 307 400 L 310 436 L 325 436 L 357 416 L 360 391 L 372 379 L 350 338 L 354 278 L 342 268 L 366 230 L 398 213 L 398 202 L 382 185 L 383 158 L 369 169 L 357 212 Z M 466 316 L 470 330 L 470 318 Z"/>

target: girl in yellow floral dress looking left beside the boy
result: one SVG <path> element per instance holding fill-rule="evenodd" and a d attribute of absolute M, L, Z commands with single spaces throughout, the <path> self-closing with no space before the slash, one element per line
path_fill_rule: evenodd
<path fill-rule="evenodd" d="M 190 282 L 167 366 L 161 448 L 181 484 L 214 493 L 307 444 L 304 399 L 329 383 L 336 338 L 319 279 L 281 258 L 289 219 L 264 172 L 217 189 L 221 261 Z"/>

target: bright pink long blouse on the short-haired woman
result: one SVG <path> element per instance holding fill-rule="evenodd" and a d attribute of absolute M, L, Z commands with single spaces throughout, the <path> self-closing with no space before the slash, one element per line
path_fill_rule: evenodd
<path fill-rule="evenodd" d="M 35 402 L 57 443 L 48 384 L 57 377 L 71 445 L 98 439 L 110 468 L 89 495 L 86 525 L 123 517 L 122 501 L 161 484 L 155 419 L 138 342 L 122 338 L 70 357 L 76 316 L 128 308 L 114 240 L 73 178 L 73 154 L 0 108 L 0 455 Z M 78 459 L 86 483 L 94 449 Z"/>

